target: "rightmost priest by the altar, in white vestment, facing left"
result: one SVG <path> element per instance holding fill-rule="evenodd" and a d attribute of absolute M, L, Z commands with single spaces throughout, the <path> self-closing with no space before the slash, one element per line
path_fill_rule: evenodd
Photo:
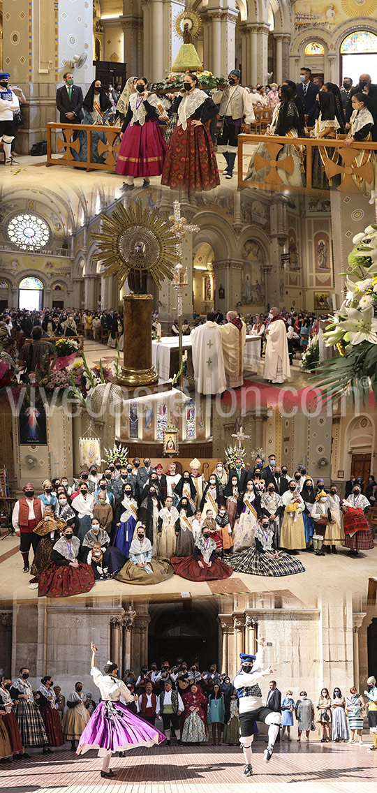
<path fill-rule="evenodd" d="M 264 380 L 283 383 L 290 377 L 287 328 L 279 315 L 279 308 L 271 308 L 270 322 L 265 331 L 267 343 L 264 358 Z"/>

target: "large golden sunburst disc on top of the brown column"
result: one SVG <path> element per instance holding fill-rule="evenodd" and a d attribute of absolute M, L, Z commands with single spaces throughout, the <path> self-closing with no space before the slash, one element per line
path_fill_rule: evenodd
<path fill-rule="evenodd" d="M 152 212 L 135 201 L 129 209 L 120 204 L 110 215 L 101 215 L 102 231 L 93 235 L 105 278 L 115 275 L 122 286 L 132 270 L 141 276 L 151 274 L 160 288 L 164 278 L 173 278 L 179 262 L 175 226 L 162 220 L 157 209 Z"/>

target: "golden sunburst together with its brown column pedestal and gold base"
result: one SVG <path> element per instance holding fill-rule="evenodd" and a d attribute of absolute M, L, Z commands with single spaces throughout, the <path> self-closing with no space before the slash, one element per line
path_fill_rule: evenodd
<path fill-rule="evenodd" d="M 179 262 L 176 224 L 162 220 L 158 209 L 143 208 L 135 201 L 128 209 L 117 205 L 102 214 L 102 230 L 93 237 L 105 278 L 116 276 L 122 286 L 128 279 L 132 293 L 124 297 L 123 366 L 117 377 L 120 385 L 137 388 L 159 379 L 152 366 L 152 295 L 146 293 L 148 274 L 161 287 L 164 278 L 173 279 Z"/>

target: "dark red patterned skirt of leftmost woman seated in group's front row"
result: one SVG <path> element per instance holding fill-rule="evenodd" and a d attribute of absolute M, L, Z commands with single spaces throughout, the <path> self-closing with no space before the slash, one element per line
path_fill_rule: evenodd
<path fill-rule="evenodd" d="M 93 568 L 83 561 L 79 561 L 79 567 L 55 565 L 52 562 L 40 573 L 38 597 L 81 595 L 82 592 L 90 592 L 94 582 Z"/>

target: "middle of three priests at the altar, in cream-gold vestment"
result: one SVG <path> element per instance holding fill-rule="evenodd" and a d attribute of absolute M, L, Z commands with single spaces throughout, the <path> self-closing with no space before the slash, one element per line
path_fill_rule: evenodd
<path fill-rule="evenodd" d="M 226 385 L 229 389 L 238 389 L 244 385 L 246 325 L 236 311 L 229 311 L 226 319 L 228 323 L 220 326 Z"/>

